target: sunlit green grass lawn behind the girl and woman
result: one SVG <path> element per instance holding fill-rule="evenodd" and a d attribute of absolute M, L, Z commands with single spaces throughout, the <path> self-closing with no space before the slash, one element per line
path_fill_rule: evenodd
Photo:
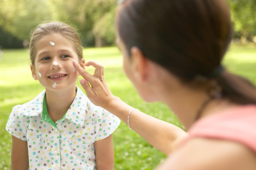
<path fill-rule="evenodd" d="M 5 125 L 17 104 L 30 101 L 43 90 L 43 87 L 31 77 L 29 54 L 24 49 L 3 50 L 0 61 L 0 169 L 10 169 L 11 134 Z M 84 49 L 85 60 L 96 60 L 105 66 L 105 79 L 114 95 L 124 102 L 138 108 L 144 113 L 158 119 L 173 123 L 179 127 L 180 122 L 159 102 L 145 103 L 126 78 L 122 68 L 122 58 L 116 47 Z M 245 46 L 232 44 L 224 64 L 231 72 L 243 75 L 256 84 L 256 45 Z M 94 72 L 92 67 L 87 71 Z M 79 80 L 77 85 L 80 86 Z M 115 169 L 149 170 L 165 159 L 165 154 L 148 144 L 141 136 L 131 131 L 124 122 L 113 134 L 115 149 Z"/>

